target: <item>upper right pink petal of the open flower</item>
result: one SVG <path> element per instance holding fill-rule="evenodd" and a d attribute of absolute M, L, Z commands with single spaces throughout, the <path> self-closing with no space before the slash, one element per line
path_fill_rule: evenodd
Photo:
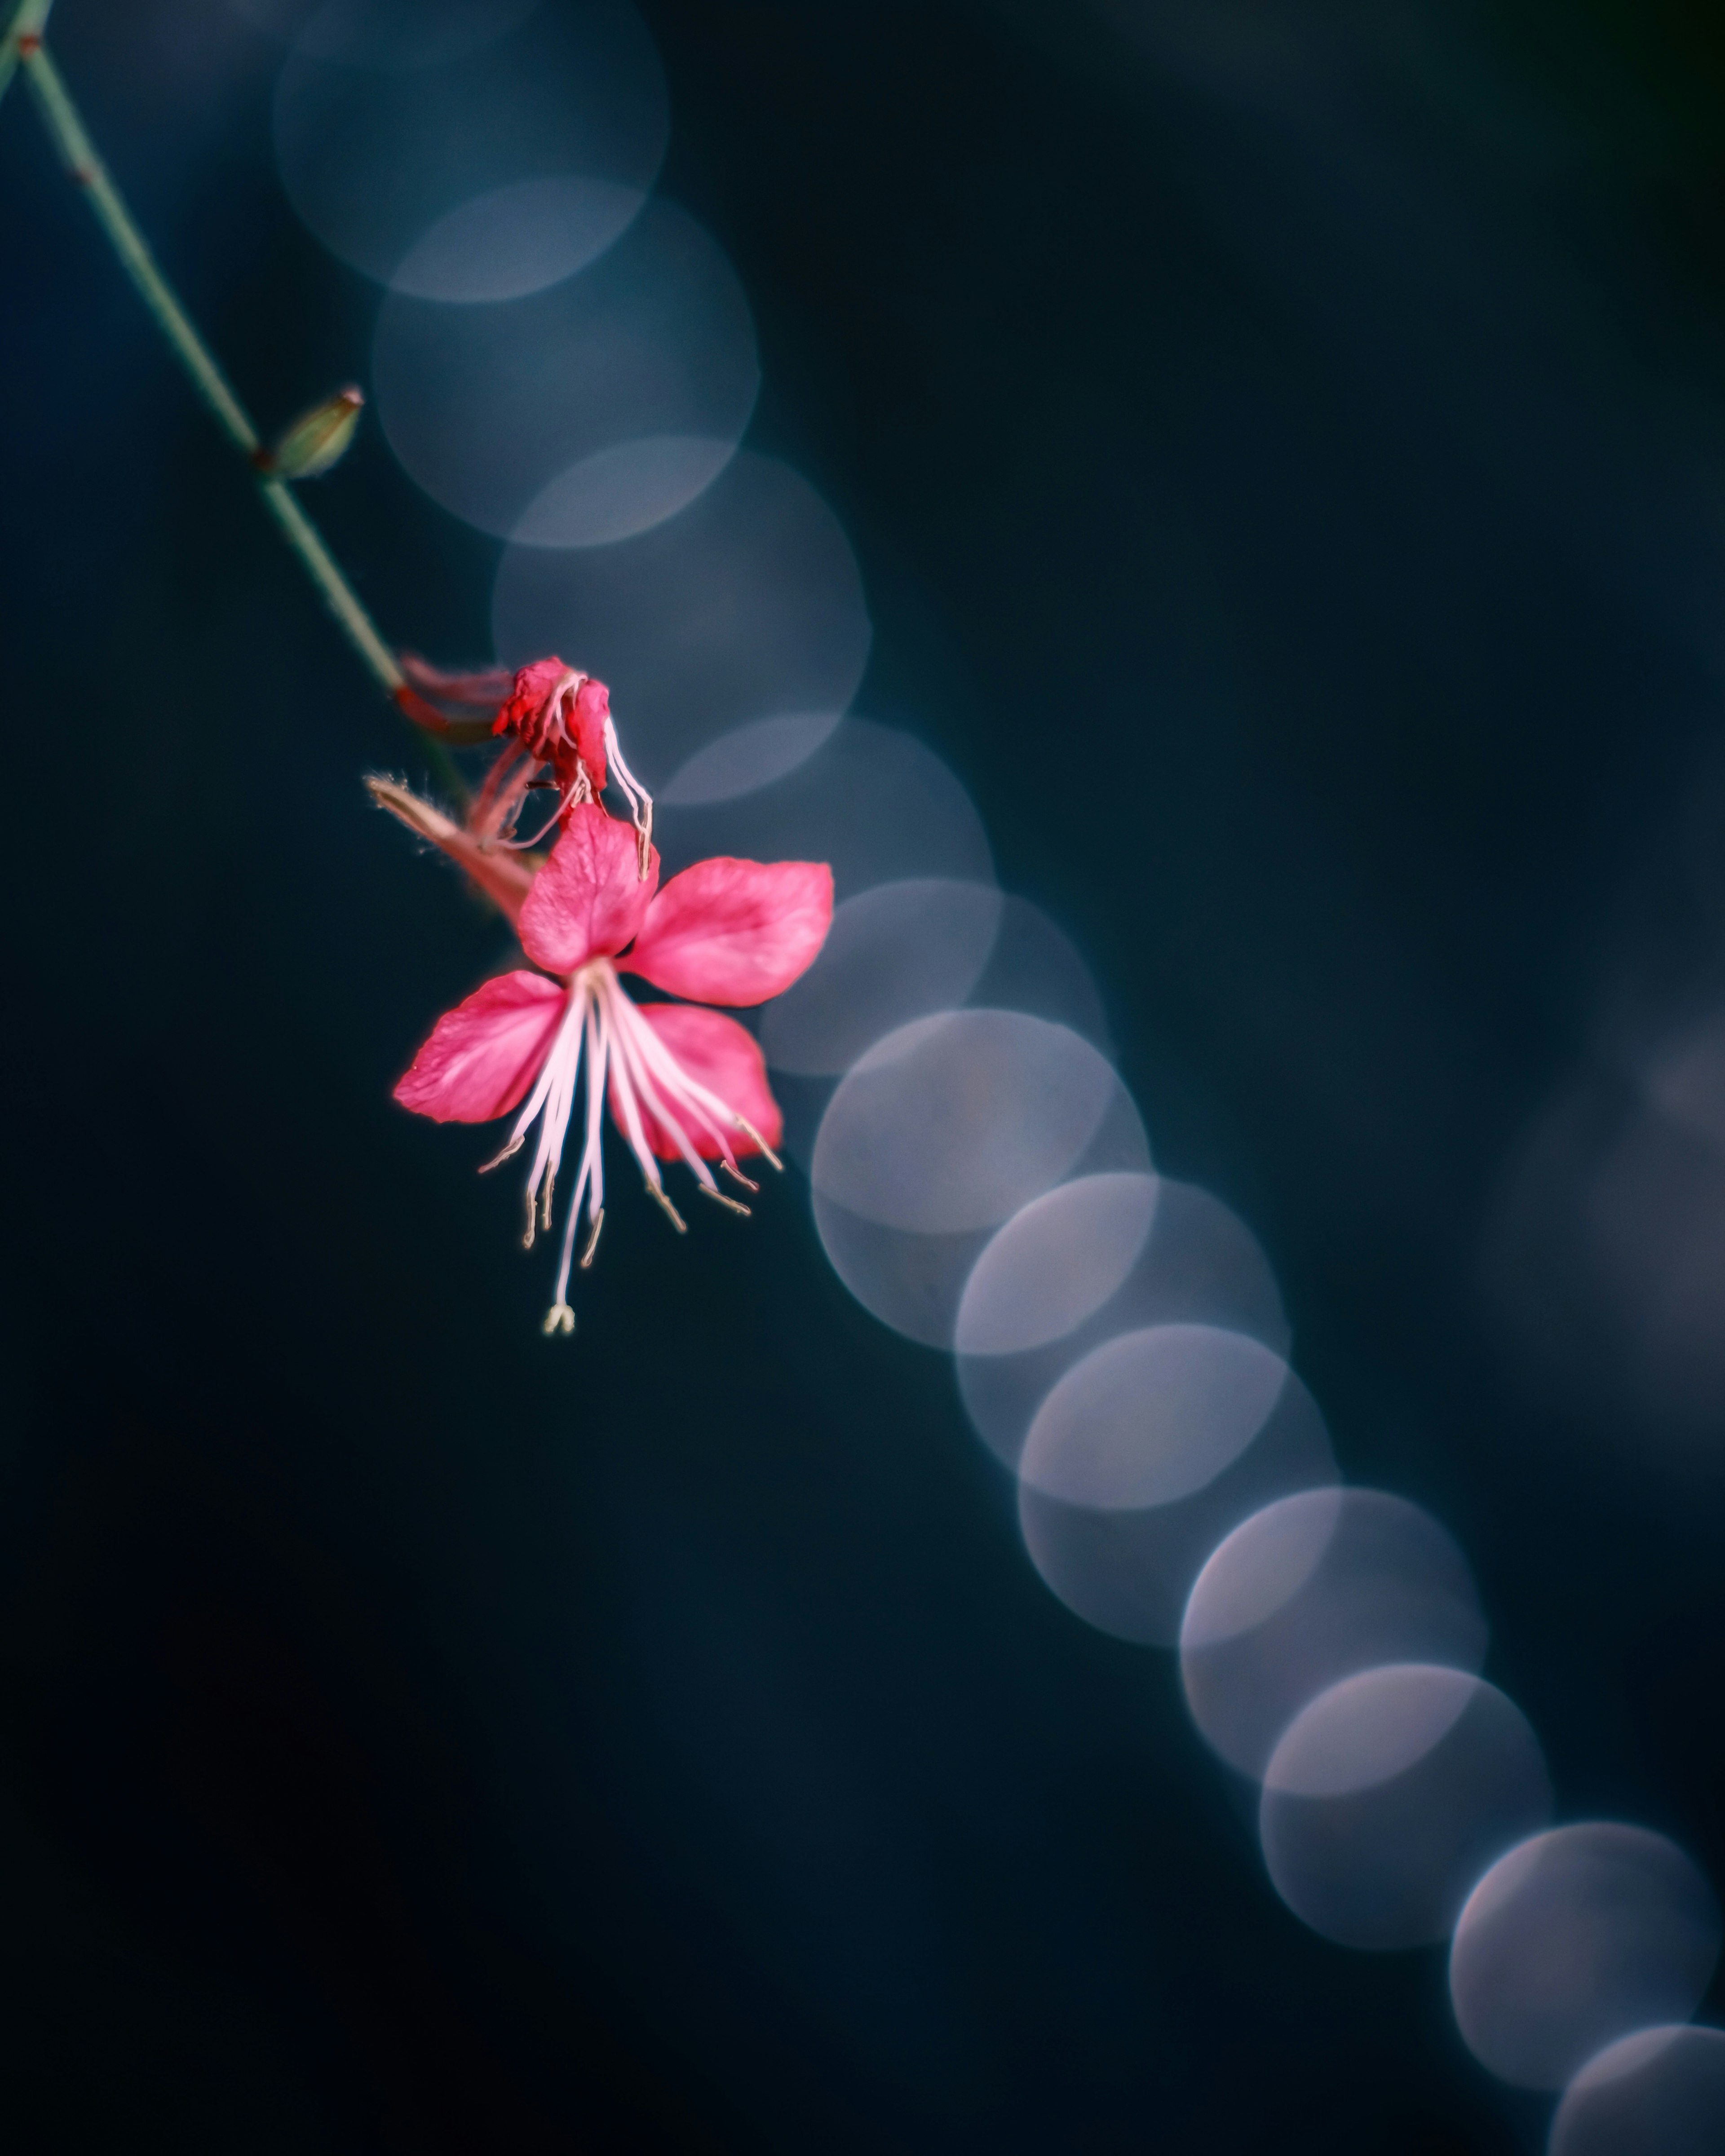
<path fill-rule="evenodd" d="M 832 925 L 824 860 L 696 860 L 653 899 L 630 957 L 673 996 L 765 1003 L 796 981 Z"/>

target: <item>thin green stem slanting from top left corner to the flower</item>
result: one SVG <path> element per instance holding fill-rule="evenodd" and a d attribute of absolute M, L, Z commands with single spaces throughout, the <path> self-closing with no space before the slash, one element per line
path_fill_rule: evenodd
<path fill-rule="evenodd" d="M 166 336 L 179 364 L 192 377 L 192 386 L 198 397 L 203 397 L 213 412 L 222 433 L 226 433 L 248 464 L 257 466 L 261 440 L 250 414 L 235 397 L 233 386 L 216 362 L 211 349 L 192 328 L 192 319 L 175 298 L 172 287 L 157 270 L 144 235 L 138 231 L 119 188 L 108 177 L 108 168 L 101 164 L 101 157 L 95 153 L 95 144 L 78 116 L 78 108 L 67 95 L 58 67 L 47 56 L 47 47 L 41 43 L 41 24 L 47 19 L 50 6 L 52 0 L 22 0 L 22 6 L 13 15 L 6 30 L 4 52 L 0 52 L 0 91 L 4 91 L 4 84 L 11 80 L 11 67 L 22 63 L 30 88 L 37 95 L 43 123 L 67 164 L 67 170 L 88 196 L 97 224 L 119 254 L 121 267 L 136 285 L 138 295 L 155 319 L 155 326 Z M 408 681 L 395 662 L 395 653 L 377 634 L 375 621 L 360 604 L 360 595 L 343 576 L 341 565 L 323 543 L 317 526 L 304 513 L 285 481 L 272 479 L 263 472 L 259 489 L 265 507 L 280 526 L 282 537 L 300 556 L 300 565 L 317 586 L 319 597 L 334 614 L 349 645 L 358 651 L 384 694 L 399 696 L 401 690 L 408 688 Z M 455 761 L 444 744 L 433 735 L 425 735 L 423 748 L 444 783 L 453 785 L 457 791 L 466 791 L 461 787 L 461 776 L 455 770 Z"/>

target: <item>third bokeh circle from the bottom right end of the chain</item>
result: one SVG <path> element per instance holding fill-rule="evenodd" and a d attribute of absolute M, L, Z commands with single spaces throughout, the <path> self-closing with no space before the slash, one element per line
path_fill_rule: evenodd
<path fill-rule="evenodd" d="M 1276 1893 L 1341 1947 L 1447 1938 L 1503 1848 L 1550 1818 L 1520 1708 L 1464 1669 L 1395 1662 L 1320 1692 L 1264 1770 Z"/>

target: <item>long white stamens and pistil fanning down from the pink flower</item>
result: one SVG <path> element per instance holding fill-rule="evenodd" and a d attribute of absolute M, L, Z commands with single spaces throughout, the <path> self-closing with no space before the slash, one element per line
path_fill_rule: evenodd
<path fill-rule="evenodd" d="M 744 1190 L 757 1190 L 759 1184 L 753 1184 L 737 1166 L 733 1132 L 742 1132 L 750 1138 L 772 1166 L 778 1166 L 778 1156 L 765 1143 L 761 1132 L 755 1130 L 755 1125 L 729 1102 L 720 1100 L 718 1093 L 701 1084 L 699 1078 L 692 1078 L 681 1063 L 677 1063 L 668 1046 L 647 1024 L 640 1009 L 625 994 L 610 959 L 595 957 L 569 977 L 569 996 L 563 1009 L 563 1020 L 556 1028 L 550 1054 L 539 1069 L 539 1080 L 522 1104 L 522 1112 L 515 1117 L 509 1143 L 496 1160 L 487 1162 L 487 1169 L 496 1169 L 518 1153 L 537 1119 L 539 1141 L 533 1153 L 533 1171 L 526 1179 L 526 1248 L 533 1248 L 533 1238 L 539 1229 L 550 1229 L 552 1225 L 552 1190 L 563 1166 L 563 1145 L 569 1136 L 569 1121 L 576 1112 L 582 1059 L 586 1061 L 586 1100 L 582 1106 L 580 1171 L 576 1175 L 569 1214 L 563 1225 L 563 1259 L 556 1272 L 556 1298 L 546 1313 L 548 1335 L 576 1330 L 576 1313 L 569 1309 L 567 1298 L 582 1201 L 586 1201 L 586 1244 L 580 1255 L 582 1270 L 593 1263 L 593 1253 L 599 1246 L 599 1229 L 606 1218 L 606 1169 L 602 1149 L 606 1091 L 610 1091 L 612 1110 L 623 1128 L 630 1151 L 640 1164 L 647 1194 L 658 1201 L 679 1235 L 684 1233 L 684 1216 L 671 1203 L 671 1194 L 666 1192 L 664 1177 L 660 1173 L 660 1162 L 653 1153 L 653 1136 L 658 1132 L 664 1132 L 664 1136 L 668 1136 L 668 1141 L 677 1147 L 681 1158 L 694 1171 L 699 1188 L 716 1205 L 724 1205 L 727 1212 L 746 1214 L 748 1207 L 718 1188 L 712 1169 L 690 1143 L 690 1128 L 703 1132 L 718 1147 L 720 1169 Z"/>

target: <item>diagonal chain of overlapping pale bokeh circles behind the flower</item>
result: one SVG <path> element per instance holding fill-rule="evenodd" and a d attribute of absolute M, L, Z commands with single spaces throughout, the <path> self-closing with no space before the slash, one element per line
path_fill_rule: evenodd
<path fill-rule="evenodd" d="M 750 310 L 653 192 L 640 19 L 233 4 L 289 43 L 289 198 L 384 287 L 392 451 L 507 541 L 496 655 L 612 683 L 666 869 L 832 862 L 826 951 L 761 1013 L 787 1147 L 850 1291 L 955 1358 L 1031 1563 L 1087 1623 L 1179 1656 L 1300 1921 L 1447 1943 L 1468 2048 L 1559 2098 L 1550 2156 L 1725 2147 L 1725 2033 L 1690 2024 L 1721 1947 L 1706 1878 L 1632 1824 L 1552 1826 L 1462 1552 L 1341 1481 L 1264 1250 L 1156 1173 L 1082 959 L 1000 893 L 953 772 L 852 711 L 862 580 L 815 489 L 742 446 Z"/>

